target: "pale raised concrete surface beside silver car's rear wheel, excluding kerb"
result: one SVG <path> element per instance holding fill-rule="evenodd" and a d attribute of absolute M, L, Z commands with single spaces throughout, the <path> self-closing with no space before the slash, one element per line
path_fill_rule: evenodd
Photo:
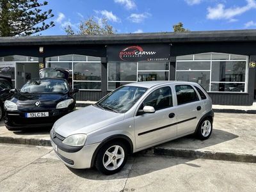
<path fill-rule="evenodd" d="M 256 115 L 215 113 L 213 128 L 209 140 L 185 137 L 159 147 L 256 156 Z"/>

